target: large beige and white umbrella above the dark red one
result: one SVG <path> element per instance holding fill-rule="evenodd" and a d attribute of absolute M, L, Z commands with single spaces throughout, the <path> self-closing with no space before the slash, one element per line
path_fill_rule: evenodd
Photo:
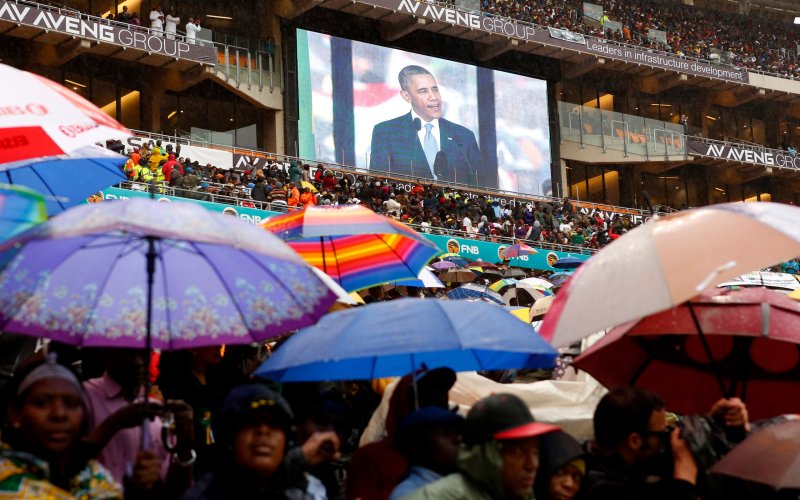
<path fill-rule="evenodd" d="M 569 345 L 797 257 L 798 220 L 800 208 L 770 202 L 723 203 L 651 219 L 575 271 L 541 334 L 555 346 Z"/>

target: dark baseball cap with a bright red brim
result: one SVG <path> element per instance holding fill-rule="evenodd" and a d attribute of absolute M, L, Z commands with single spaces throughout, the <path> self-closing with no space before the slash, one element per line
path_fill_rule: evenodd
<path fill-rule="evenodd" d="M 528 406 L 513 394 L 492 394 L 472 407 L 464 424 L 464 444 L 492 440 L 525 439 L 561 430 L 537 422 Z"/>

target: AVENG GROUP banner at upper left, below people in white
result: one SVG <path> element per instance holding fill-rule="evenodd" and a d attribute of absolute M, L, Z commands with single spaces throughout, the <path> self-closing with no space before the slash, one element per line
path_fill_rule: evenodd
<path fill-rule="evenodd" d="M 191 59 L 205 64 L 216 63 L 217 49 L 214 47 L 193 45 L 181 40 L 151 35 L 133 25 L 126 28 L 116 24 L 104 24 L 99 19 L 83 19 L 75 16 L 74 11 L 42 10 L 32 5 L 0 0 L 0 20 L 179 59 Z"/>

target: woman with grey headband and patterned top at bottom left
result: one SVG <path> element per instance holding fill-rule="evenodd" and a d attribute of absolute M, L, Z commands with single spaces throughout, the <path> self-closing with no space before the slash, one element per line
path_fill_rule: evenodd
<path fill-rule="evenodd" d="M 75 374 L 58 364 L 54 355 L 19 370 L 4 387 L 3 403 L 0 497 L 122 497 L 111 474 L 82 457 L 83 390 Z M 141 472 L 139 468 L 133 474 Z"/>

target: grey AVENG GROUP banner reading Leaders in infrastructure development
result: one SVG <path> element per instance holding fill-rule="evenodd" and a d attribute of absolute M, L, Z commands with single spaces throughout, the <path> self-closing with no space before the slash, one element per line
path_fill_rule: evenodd
<path fill-rule="evenodd" d="M 462 26 L 523 41 L 539 42 L 570 50 L 577 48 L 574 41 L 560 37 L 553 38 L 547 30 L 539 30 L 531 24 L 512 19 L 461 12 L 449 7 L 417 2 L 416 0 L 360 0 L 360 3 L 382 7 L 395 12 L 406 12 L 430 21 L 444 22 L 453 26 Z M 640 49 L 630 45 L 608 43 L 598 38 L 586 37 L 585 40 L 583 50 L 600 57 L 610 57 L 634 64 L 647 64 L 688 75 L 704 76 L 736 83 L 749 83 L 750 81 L 747 70 L 743 68 L 687 60 L 676 55 L 654 53 L 647 49 Z"/>

